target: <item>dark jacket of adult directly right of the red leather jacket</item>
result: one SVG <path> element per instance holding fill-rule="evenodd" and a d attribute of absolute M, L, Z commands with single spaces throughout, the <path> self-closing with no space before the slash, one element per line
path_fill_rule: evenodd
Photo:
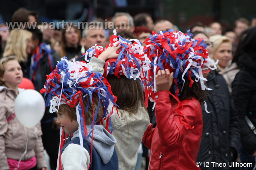
<path fill-rule="evenodd" d="M 207 92 L 206 100 L 211 112 L 207 113 L 202 105 L 203 134 L 196 162 L 205 162 L 201 169 L 229 169 L 228 162 L 236 159 L 240 143 L 238 114 L 223 76 L 212 70 L 207 80 L 207 87 L 212 89 Z M 213 167 L 211 162 L 227 166 Z"/>

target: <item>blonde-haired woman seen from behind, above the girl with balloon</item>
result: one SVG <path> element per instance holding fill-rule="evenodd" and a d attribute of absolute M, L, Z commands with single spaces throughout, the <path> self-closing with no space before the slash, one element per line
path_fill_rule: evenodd
<path fill-rule="evenodd" d="M 24 29 L 15 28 L 11 31 L 7 39 L 3 57 L 15 55 L 22 68 L 23 76 L 29 78 L 29 66 L 31 61 L 28 57 L 32 49 L 32 33 Z"/>

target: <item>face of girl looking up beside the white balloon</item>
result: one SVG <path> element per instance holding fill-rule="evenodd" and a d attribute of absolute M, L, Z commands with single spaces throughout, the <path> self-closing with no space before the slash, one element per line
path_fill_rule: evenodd
<path fill-rule="evenodd" d="M 4 64 L 4 76 L 1 78 L 9 88 L 18 87 L 23 78 L 23 72 L 17 60 L 10 60 Z"/>

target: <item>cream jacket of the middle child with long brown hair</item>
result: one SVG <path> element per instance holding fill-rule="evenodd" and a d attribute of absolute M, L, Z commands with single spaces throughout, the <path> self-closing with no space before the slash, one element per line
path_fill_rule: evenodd
<path fill-rule="evenodd" d="M 104 73 L 105 62 L 98 58 L 91 58 L 88 63 L 93 71 Z M 116 138 L 115 149 L 118 156 L 119 170 L 134 170 L 137 162 L 137 151 L 144 132 L 149 125 L 149 116 L 145 108 L 140 107 L 136 114 L 129 114 L 127 111 L 119 110 L 111 118 L 113 127 L 112 135 Z"/>

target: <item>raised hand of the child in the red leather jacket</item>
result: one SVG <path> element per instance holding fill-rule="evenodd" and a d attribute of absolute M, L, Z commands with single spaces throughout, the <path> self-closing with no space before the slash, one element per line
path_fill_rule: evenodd
<path fill-rule="evenodd" d="M 170 90 L 173 84 L 173 72 L 170 74 L 168 69 L 159 70 L 155 76 L 157 91 Z"/>

